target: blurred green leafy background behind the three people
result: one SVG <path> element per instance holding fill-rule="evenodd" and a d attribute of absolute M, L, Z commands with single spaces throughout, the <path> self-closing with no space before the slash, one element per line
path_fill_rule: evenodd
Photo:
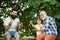
<path fill-rule="evenodd" d="M 21 37 L 36 36 L 29 21 L 32 20 L 36 24 L 39 10 L 45 10 L 56 21 L 58 29 L 57 40 L 60 40 L 60 0 L 0 0 L 0 38 L 4 37 L 3 23 L 12 8 L 18 9 L 18 17 L 21 21 L 19 31 Z"/>

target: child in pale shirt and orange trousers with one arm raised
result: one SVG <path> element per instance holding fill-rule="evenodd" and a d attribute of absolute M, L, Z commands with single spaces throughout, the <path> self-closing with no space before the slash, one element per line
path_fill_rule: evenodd
<path fill-rule="evenodd" d="M 37 18 L 37 24 L 36 25 L 34 25 L 32 23 L 32 21 L 30 21 L 30 24 L 32 25 L 32 27 L 34 27 L 36 29 L 36 33 L 37 33 L 36 40 L 43 40 L 44 39 L 42 23 L 43 23 L 43 21 L 40 18 Z"/>

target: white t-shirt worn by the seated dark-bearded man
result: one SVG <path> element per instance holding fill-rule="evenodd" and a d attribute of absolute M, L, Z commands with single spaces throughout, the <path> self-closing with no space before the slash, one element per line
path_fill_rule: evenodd
<path fill-rule="evenodd" d="M 8 31 L 16 31 L 17 22 L 19 22 L 19 19 L 15 18 Z M 6 20 L 4 21 L 4 25 L 8 25 L 9 23 L 10 23 L 10 17 L 6 18 Z"/>

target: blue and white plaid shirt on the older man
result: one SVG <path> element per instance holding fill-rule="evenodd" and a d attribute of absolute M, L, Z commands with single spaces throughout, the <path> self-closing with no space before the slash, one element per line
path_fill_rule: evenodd
<path fill-rule="evenodd" d="M 50 16 L 47 16 L 44 20 L 43 20 L 43 29 L 44 29 L 44 34 L 53 34 L 53 35 L 57 35 L 57 26 L 55 21 L 53 20 L 53 18 L 51 18 Z"/>

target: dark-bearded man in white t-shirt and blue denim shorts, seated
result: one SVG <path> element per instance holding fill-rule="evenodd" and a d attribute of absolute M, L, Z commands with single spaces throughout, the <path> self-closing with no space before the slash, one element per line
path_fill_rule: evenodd
<path fill-rule="evenodd" d="M 17 10 L 13 9 L 10 16 L 4 21 L 6 40 L 10 40 L 11 37 L 14 37 L 15 40 L 19 40 L 19 24 L 20 21 L 17 18 Z"/>

